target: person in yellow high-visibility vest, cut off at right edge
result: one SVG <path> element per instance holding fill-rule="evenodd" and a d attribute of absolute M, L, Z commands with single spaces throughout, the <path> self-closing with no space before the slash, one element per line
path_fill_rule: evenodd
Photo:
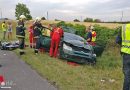
<path fill-rule="evenodd" d="M 116 43 L 121 45 L 123 57 L 124 84 L 123 90 L 130 90 L 130 24 L 122 26 L 116 38 Z"/>

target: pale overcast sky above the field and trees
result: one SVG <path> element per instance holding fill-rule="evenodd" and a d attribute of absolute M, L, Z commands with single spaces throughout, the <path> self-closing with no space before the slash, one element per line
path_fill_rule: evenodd
<path fill-rule="evenodd" d="M 26 4 L 33 18 L 46 17 L 48 11 L 50 20 L 71 21 L 91 17 L 103 21 L 120 21 L 123 11 L 123 21 L 130 21 L 129 0 L 0 0 L 2 16 L 15 19 L 18 3 Z"/>

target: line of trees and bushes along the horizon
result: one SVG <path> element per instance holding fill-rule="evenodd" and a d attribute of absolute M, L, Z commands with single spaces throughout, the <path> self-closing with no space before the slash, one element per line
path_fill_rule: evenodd
<path fill-rule="evenodd" d="M 26 4 L 23 4 L 23 3 L 18 3 L 16 5 L 16 8 L 15 8 L 15 16 L 16 16 L 16 19 L 19 19 L 19 16 L 20 15 L 25 15 L 27 20 L 32 20 L 32 16 L 30 14 L 30 10 L 29 8 L 26 6 Z M 46 18 L 43 16 L 41 18 L 42 20 L 46 20 Z M 62 21 L 62 20 L 59 20 L 59 19 L 55 19 L 55 21 Z M 81 22 L 79 19 L 74 19 L 73 20 L 74 22 Z M 129 23 L 130 21 L 125 21 L 125 22 L 122 22 L 122 21 L 112 21 L 112 22 L 104 22 L 104 21 L 101 21 L 100 19 L 94 19 L 94 18 L 90 18 L 90 17 L 86 17 L 83 22 L 94 22 L 94 23 Z"/>

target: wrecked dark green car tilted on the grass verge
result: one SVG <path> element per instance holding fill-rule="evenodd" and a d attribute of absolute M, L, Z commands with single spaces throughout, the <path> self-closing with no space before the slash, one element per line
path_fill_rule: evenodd
<path fill-rule="evenodd" d="M 96 63 L 96 54 L 93 47 L 84 38 L 78 36 L 70 27 L 63 28 L 64 37 L 61 40 L 58 57 L 81 64 Z M 50 49 L 51 38 L 43 35 L 40 38 L 41 45 L 46 51 Z"/>

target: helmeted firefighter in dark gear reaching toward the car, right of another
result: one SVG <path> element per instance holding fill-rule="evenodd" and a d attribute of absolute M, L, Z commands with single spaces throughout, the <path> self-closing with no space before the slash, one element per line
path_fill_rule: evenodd
<path fill-rule="evenodd" d="M 36 17 L 36 20 L 33 24 L 33 35 L 34 35 L 34 39 L 35 39 L 35 42 L 36 42 L 36 47 L 35 47 L 35 50 L 34 50 L 35 54 L 38 54 L 38 50 L 41 47 L 40 36 L 42 35 L 42 30 L 44 28 L 46 28 L 46 27 L 42 26 L 41 18 Z"/>

